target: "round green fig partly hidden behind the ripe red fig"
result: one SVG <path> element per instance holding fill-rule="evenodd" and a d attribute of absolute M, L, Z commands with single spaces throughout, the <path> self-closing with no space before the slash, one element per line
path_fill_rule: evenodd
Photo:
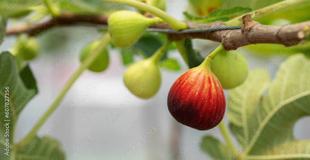
<path fill-rule="evenodd" d="M 242 84 L 248 75 L 246 58 L 237 51 L 221 51 L 211 63 L 211 71 L 218 78 L 223 89 L 232 89 Z"/>

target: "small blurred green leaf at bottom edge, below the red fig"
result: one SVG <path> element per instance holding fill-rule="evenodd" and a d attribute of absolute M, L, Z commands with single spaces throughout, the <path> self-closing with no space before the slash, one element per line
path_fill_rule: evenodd
<path fill-rule="evenodd" d="M 224 160 L 228 157 L 228 148 L 213 136 L 203 136 L 200 148 L 214 160 Z"/>

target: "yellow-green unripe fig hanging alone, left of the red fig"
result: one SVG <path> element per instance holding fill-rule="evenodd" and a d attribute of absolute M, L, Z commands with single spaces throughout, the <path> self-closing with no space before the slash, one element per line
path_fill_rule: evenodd
<path fill-rule="evenodd" d="M 158 61 L 153 57 L 131 64 L 124 74 L 124 83 L 137 97 L 149 98 L 157 93 L 161 84 Z"/>

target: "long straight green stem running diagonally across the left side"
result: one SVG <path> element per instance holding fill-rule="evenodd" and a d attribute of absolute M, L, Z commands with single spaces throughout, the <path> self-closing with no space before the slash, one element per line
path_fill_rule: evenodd
<path fill-rule="evenodd" d="M 106 47 L 111 42 L 111 37 L 108 33 L 106 33 L 101 39 L 100 44 L 91 51 L 90 54 L 88 54 L 85 59 L 82 61 L 81 66 L 78 68 L 77 71 L 73 73 L 73 75 L 70 77 L 70 79 L 67 81 L 67 83 L 64 85 L 54 102 L 51 104 L 51 106 L 48 108 L 48 110 L 42 115 L 42 117 L 37 121 L 37 123 L 34 125 L 34 127 L 31 129 L 31 131 L 28 133 L 27 136 L 25 136 L 20 142 L 17 143 L 17 148 L 23 148 L 27 143 L 36 135 L 38 130 L 41 128 L 41 126 L 44 124 L 44 122 L 48 119 L 48 117 L 54 112 L 54 110 L 57 108 L 57 106 L 60 104 L 62 99 L 64 98 L 65 94 L 68 92 L 72 84 L 75 80 L 82 74 L 82 72 L 88 68 L 91 63 L 98 57 L 100 54 L 100 50 L 104 47 Z M 17 149 L 18 150 L 18 149 Z"/>

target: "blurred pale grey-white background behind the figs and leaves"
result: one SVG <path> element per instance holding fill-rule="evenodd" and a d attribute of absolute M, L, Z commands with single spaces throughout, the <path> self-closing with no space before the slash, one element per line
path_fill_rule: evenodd
<path fill-rule="evenodd" d="M 174 1 L 178 4 L 175 7 L 170 7 L 169 3 L 173 4 Z M 186 0 L 174 1 L 167 1 L 167 12 L 177 19 L 184 19 L 182 12 L 187 9 L 188 2 Z M 40 89 L 38 95 L 29 102 L 19 117 L 16 130 L 17 141 L 30 131 L 80 65 L 78 54 L 82 47 L 76 49 L 74 44 L 82 40 L 85 33 L 91 35 L 91 39 L 86 43 L 101 36 L 101 33 L 91 27 L 59 27 L 47 31 L 47 33 L 58 35 L 60 37 L 57 40 L 58 43 L 65 44 L 45 50 L 30 62 L 30 67 Z M 42 42 L 44 38 L 48 38 L 44 33 L 38 37 L 42 45 L 48 45 Z M 14 43 L 15 37 L 7 37 L 0 46 L 0 50 L 10 48 Z M 206 56 L 218 45 L 219 43 L 206 40 L 194 40 L 194 47 L 200 49 L 203 56 Z M 57 68 L 55 63 L 59 63 L 60 58 L 65 57 L 65 53 L 69 53 L 72 49 L 75 54 L 64 65 Z M 276 57 L 276 55 L 274 57 L 261 57 L 248 53 L 242 48 L 240 51 L 248 60 L 250 69 L 266 67 L 266 64 L 269 64 L 271 59 Z M 173 54 L 173 52 L 169 54 Z M 76 152 L 78 157 L 74 159 L 77 160 L 122 160 L 122 156 L 126 157 L 127 151 L 130 151 L 132 146 L 137 145 L 137 143 L 141 143 L 142 146 L 129 159 L 170 160 L 176 159 L 177 155 L 182 160 L 210 159 L 201 151 L 199 143 L 201 137 L 206 134 L 214 135 L 223 141 L 219 129 L 216 127 L 208 131 L 198 131 L 186 127 L 177 123 L 167 109 L 166 98 L 171 85 L 188 69 L 182 58 L 176 57 L 182 66 L 180 71 L 163 69 L 162 85 L 156 96 L 150 100 L 141 100 L 133 99 L 132 94 L 123 84 L 122 75 L 126 66 L 121 62 L 119 51 L 110 49 L 109 56 L 108 69 L 99 74 L 84 71 L 66 94 L 60 106 L 40 129 L 40 132 L 44 133 L 45 131 L 48 136 L 60 141 L 65 150 L 66 159 L 69 159 L 68 156 L 72 156 Z M 279 65 L 280 63 L 277 63 L 275 67 L 271 68 L 272 77 Z M 97 80 L 99 75 L 104 75 L 104 78 Z M 93 89 L 89 87 L 92 83 L 94 84 Z M 79 93 L 84 92 L 84 90 L 87 90 L 88 94 L 71 108 L 69 103 L 73 103 L 74 98 L 78 98 Z M 228 91 L 225 90 L 226 99 L 227 93 Z M 127 103 L 128 107 L 111 122 L 109 116 L 112 117 L 113 112 L 116 112 L 118 106 L 122 106 L 123 103 Z M 226 116 L 224 121 L 228 124 Z M 309 122 L 309 117 L 299 120 L 294 128 L 294 136 L 299 139 L 310 139 L 309 134 L 307 134 L 310 132 L 310 127 L 307 125 Z M 49 124 L 53 124 L 55 127 L 47 132 Z M 151 134 L 148 140 L 141 140 L 141 137 L 147 135 L 152 127 L 156 127 L 158 130 Z M 87 144 L 87 147 L 82 149 L 82 153 L 80 153 L 81 150 L 78 147 L 83 145 L 88 137 L 92 137 L 94 140 Z M 186 147 L 191 141 L 198 141 L 198 143 L 193 147 L 188 147 L 190 148 L 188 150 Z M 237 146 L 236 141 L 235 144 Z M 187 151 L 185 155 L 181 151 L 184 148 Z"/>

